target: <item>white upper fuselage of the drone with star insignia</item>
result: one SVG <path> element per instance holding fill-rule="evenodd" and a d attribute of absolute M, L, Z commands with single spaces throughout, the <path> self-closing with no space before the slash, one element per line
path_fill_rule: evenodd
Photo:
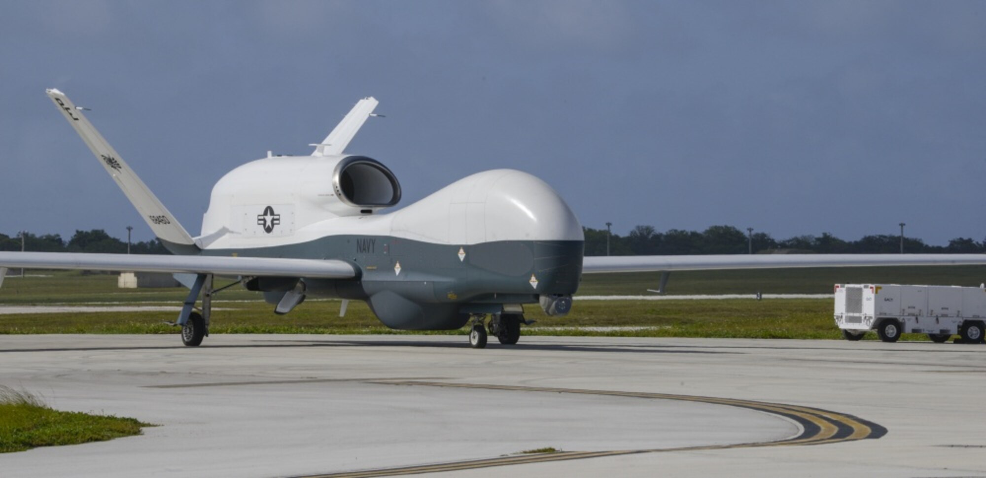
<path fill-rule="evenodd" d="M 230 171 L 213 188 L 196 242 L 204 249 L 242 249 L 335 235 L 461 245 L 583 240 L 582 226 L 565 201 L 527 172 L 477 172 L 403 209 L 378 214 L 379 206 L 347 203 L 333 179 L 347 158 L 353 157 L 272 157 Z M 386 184 L 373 180 L 361 184 L 386 196 L 379 191 Z"/>

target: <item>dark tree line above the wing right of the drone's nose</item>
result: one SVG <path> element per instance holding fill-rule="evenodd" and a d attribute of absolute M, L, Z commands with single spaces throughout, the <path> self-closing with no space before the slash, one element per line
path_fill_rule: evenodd
<path fill-rule="evenodd" d="M 586 255 L 606 255 L 606 230 L 583 228 Z M 653 226 L 637 226 L 627 236 L 609 236 L 610 255 L 745 254 L 750 238 L 733 226 L 712 226 L 699 233 L 671 229 L 661 233 Z M 881 254 L 899 253 L 900 236 L 865 236 L 844 240 L 828 233 L 777 240 L 767 233 L 752 235 L 753 253 Z M 955 238 L 949 245 L 929 245 L 922 239 L 904 238 L 906 253 L 986 252 L 986 239 Z"/>

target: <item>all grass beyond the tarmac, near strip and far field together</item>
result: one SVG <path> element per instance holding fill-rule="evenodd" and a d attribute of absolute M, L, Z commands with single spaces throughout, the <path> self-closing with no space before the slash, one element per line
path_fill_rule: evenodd
<path fill-rule="evenodd" d="M 45 273 L 48 274 L 48 273 Z M 660 274 L 586 275 L 583 295 L 648 295 Z M 986 267 L 861 267 L 844 269 L 781 269 L 701 271 L 671 274 L 670 294 L 830 293 L 837 282 L 896 282 L 940 285 L 979 285 Z M 117 289 L 111 275 L 84 276 L 55 272 L 51 277 L 8 278 L 0 288 L 0 304 L 120 302 L 127 305 L 178 306 L 186 292 L 174 289 Z M 360 302 L 350 304 L 340 318 L 338 301 L 307 301 L 290 314 L 275 315 L 258 293 L 238 287 L 217 296 L 212 333 L 312 334 L 461 334 L 464 330 L 405 332 L 388 329 Z M 246 302 L 225 302 L 246 301 Z M 738 337 L 838 339 L 832 321 L 831 299 L 580 301 L 564 317 L 545 315 L 540 307 L 525 307 L 527 335 L 606 335 L 641 337 Z M 176 334 L 176 311 L 33 313 L 0 315 L 0 334 L 136 333 Z M 585 327 L 644 327 L 608 331 Z M 559 328 L 561 327 L 561 328 Z M 869 334 L 874 338 L 875 334 Z M 904 340 L 927 340 L 905 334 Z"/>

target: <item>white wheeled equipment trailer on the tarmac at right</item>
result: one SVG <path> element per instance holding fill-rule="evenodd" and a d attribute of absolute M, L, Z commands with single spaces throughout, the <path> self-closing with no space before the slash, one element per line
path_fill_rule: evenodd
<path fill-rule="evenodd" d="M 836 284 L 835 324 L 847 340 L 876 330 L 883 342 L 926 333 L 942 343 L 957 333 L 965 343 L 982 343 L 986 288 Z"/>

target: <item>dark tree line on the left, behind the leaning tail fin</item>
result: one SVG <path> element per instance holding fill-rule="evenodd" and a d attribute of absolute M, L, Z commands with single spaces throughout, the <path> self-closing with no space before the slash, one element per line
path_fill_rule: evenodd
<path fill-rule="evenodd" d="M 0 234 L 0 250 L 21 250 L 21 235 L 13 237 Z M 106 252 L 126 253 L 126 241 L 112 238 L 102 229 L 78 231 L 66 242 L 61 235 L 37 236 L 24 233 L 24 250 L 31 252 Z M 168 254 L 168 249 L 158 239 L 131 242 L 131 254 Z"/>

